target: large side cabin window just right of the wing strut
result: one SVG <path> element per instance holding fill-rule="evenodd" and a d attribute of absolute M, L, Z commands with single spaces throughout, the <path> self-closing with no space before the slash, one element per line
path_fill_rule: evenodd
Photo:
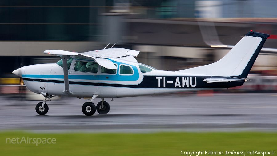
<path fill-rule="evenodd" d="M 76 61 L 74 71 L 97 73 L 98 72 L 98 63 L 86 62 L 86 61 Z"/>

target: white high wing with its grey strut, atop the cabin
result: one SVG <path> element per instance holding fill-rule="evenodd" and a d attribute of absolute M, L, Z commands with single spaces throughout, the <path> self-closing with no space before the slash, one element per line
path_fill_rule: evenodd
<path fill-rule="evenodd" d="M 114 63 L 110 60 L 112 58 L 123 58 L 126 57 L 131 61 L 136 61 L 134 56 L 138 56 L 139 51 L 124 49 L 124 48 L 109 48 L 102 50 L 88 51 L 85 53 L 76 53 L 64 50 L 45 50 L 43 53 L 50 55 L 57 55 L 62 58 L 63 65 L 63 75 L 64 75 L 64 90 L 63 94 L 72 95 L 74 94 L 69 90 L 69 80 L 68 80 L 68 71 L 67 71 L 67 59 L 78 57 L 83 59 L 90 59 L 97 62 L 100 66 L 103 66 L 107 69 L 117 69 Z"/>

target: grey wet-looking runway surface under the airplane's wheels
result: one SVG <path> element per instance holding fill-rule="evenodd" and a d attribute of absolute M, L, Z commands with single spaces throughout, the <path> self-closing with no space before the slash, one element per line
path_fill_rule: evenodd
<path fill-rule="evenodd" d="M 88 100 L 62 97 L 47 102 L 49 112 L 38 115 L 41 101 L 0 96 L 0 130 L 38 132 L 155 132 L 155 131 L 277 131 L 277 94 L 236 93 L 200 97 L 144 96 L 105 99 L 108 114 L 85 116 Z M 100 99 L 95 99 L 97 104 Z"/>

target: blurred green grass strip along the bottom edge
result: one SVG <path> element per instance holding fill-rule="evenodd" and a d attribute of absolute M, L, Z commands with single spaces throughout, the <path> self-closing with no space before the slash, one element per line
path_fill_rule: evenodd
<path fill-rule="evenodd" d="M 55 138 L 53 143 L 17 141 L 6 138 Z M 39 140 L 36 140 L 39 142 Z M 48 140 L 51 142 L 51 140 Z M 164 133 L 28 133 L 0 132 L 0 155 L 147 156 L 181 155 L 181 151 L 274 151 L 277 133 L 263 132 L 164 132 Z M 196 155 L 196 154 L 192 154 Z M 206 154 L 207 155 L 207 154 Z M 215 155 L 215 154 L 213 154 Z M 243 153 L 244 155 L 244 153 Z M 247 155 L 247 154 L 246 154 Z M 257 155 L 257 154 L 255 154 Z"/>

